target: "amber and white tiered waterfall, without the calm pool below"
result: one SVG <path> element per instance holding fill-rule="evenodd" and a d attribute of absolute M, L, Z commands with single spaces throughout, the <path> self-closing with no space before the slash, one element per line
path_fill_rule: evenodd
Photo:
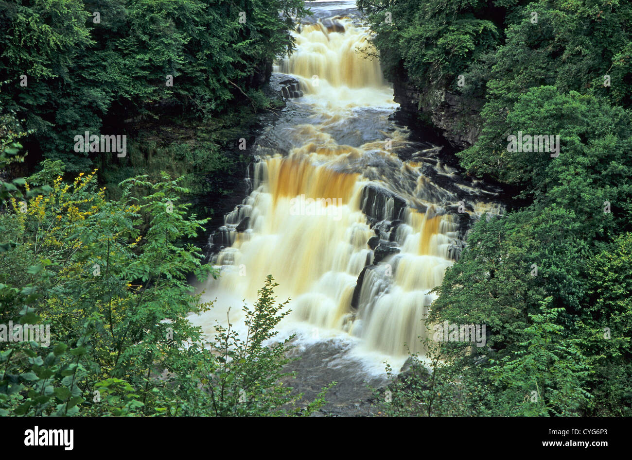
<path fill-rule="evenodd" d="M 232 305 L 240 322 L 240 300 L 256 300 L 272 274 L 279 300 L 291 298 L 290 325 L 349 337 L 359 353 L 423 353 L 430 290 L 463 246 L 458 193 L 435 185 L 423 161 L 398 157 L 407 134 L 388 121 L 397 105 L 361 25 L 333 18 L 295 37 L 276 71 L 300 82 L 305 96 L 292 104 L 308 116 L 277 129 L 287 152 L 260 150 L 253 192 L 222 227 L 221 276 L 202 286 L 216 306 L 195 321 L 211 332 Z"/>

